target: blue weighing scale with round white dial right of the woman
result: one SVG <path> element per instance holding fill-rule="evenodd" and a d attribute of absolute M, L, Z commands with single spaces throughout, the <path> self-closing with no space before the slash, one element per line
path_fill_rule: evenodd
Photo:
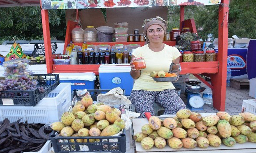
<path fill-rule="evenodd" d="M 187 95 L 187 107 L 193 110 L 202 110 L 204 100 L 200 94 L 205 90 L 205 87 L 200 86 L 201 82 L 198 81 L 186 81 L 185 94 Z"/>

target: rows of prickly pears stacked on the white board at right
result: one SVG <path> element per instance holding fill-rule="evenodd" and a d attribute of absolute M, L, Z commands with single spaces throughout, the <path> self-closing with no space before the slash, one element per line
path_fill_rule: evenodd
<path fill-rule="evenodd" d="M 141 132 L 134 135 L 144 149 L 154 145 L 164 148 L 167 145 L 179 148 L 219 147 L 221 143 L 234 146 L 247 141 L 256 143 L 256 115 L 239 113 L 231 116 L 226 112 L 202 117 L 201 114 L 181 109 L 173 118 L 160 120 L 156 116 L 142 126 Z"/>

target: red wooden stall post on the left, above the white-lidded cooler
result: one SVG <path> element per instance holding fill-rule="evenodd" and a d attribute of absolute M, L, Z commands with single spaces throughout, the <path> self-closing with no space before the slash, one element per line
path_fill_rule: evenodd
<path fill-rule="evenodd" d="M 52 46 L 51 46 L 48 10 L 42 9 L 42 1 L 40 1 L 40 3 L 41 3 L 42 26 L 43 26 L 44 49 L 45 49 L 47 73 L 53 73 Z"/>

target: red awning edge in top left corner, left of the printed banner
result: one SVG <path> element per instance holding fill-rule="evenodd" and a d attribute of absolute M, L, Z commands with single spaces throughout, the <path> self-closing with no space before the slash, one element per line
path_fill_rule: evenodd
<path fill-rule="evenodd" d="M 14 6 L 40 6 L 40 0 L 0 0 L 0 8 Z"/>

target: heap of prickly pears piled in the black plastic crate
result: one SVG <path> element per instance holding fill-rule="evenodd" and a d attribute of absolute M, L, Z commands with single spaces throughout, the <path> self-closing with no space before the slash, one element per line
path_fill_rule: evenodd
<path fill-rule="evenodd" d="M 125 121 L 121 119 L 119 109 L 103 103 L 92 104 L 90 94 L 85 94 L 72 111 L 64 112 L 61 122 L 52 123 L 51 128 L 65 137 L 112 136 L 125 128 Z M 76 141 L 87 142 L 86 139 Z"/>

